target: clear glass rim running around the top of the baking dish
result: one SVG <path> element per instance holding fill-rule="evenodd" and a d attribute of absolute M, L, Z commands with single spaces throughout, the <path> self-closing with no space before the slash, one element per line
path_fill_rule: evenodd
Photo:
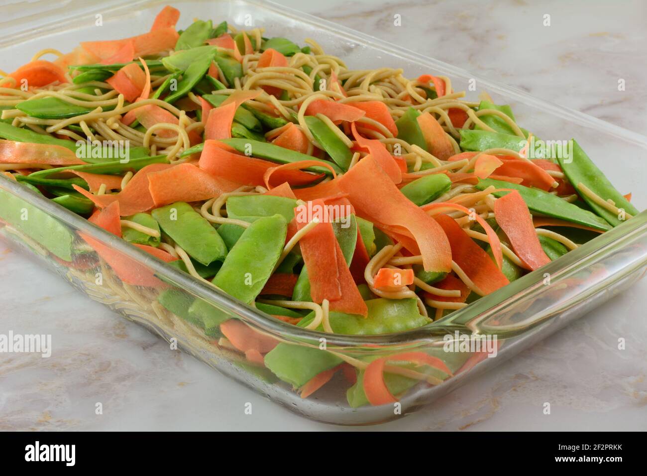
<path fill-rule="evenodd" d="M 136 0 L 131 1 L 126 4 L 126 2 L 118 5 L 109 6 L 102 10 L 104 13 L 113 12 L 115 10 L 122 10 L 124 8 L 151 8 L 156 5 L 166 5 L 166 4 L 181 4 L 188 3 L 192 0 L 179 0 L 179 1 L 168 1 L 168 0 Z M 331 33 L 336 36 L 344 36 L 347 40 L 355 41 L 355 43 L 369 45 L 371 47 L 379 47 L 382 51 L 388 54 L 396 54 L 401 58 L 405 58 L 410 62 L 417 63 L 419 65 L 437 66 L 439 69 L 448 72 L 448 74 L 454 74 L 455 76 L 468 76 L 475 78 L 481 87 L 479 89 L 488 89 L 489 91 L 496 91 L 502 95 L 506 95 L 509 98 L 515 98 L 523 104 L 526 104 L 531 107 L 540 107 L 545 111 L 556 115 L 569 122 L 577 122 L 580 126 L 588 126 L 594 128 L 595 130 L 603 131 L 606 134 L 619 137 L 624 141 L 631 142 L 637 146 L 641 146 L 647 150 L 647 137 L 639 133 L 635 133 L 630 130 L 621 128 L 620 126 L 615 126 L 615 124 L 610 124 L 604 120 L 591 117 L 580 111 L 575 111 L 574 109 L 565 108 L 564 106 L 559 106 L 553 102 L 546 100 L 538 99 L 535 96 L 525 93 L 520 89 L 510 87 L 501 82 L 494 80 L 488 80 L 486 78 L 481 78 L 477 75 L 471 74 L 468 71 L 455 67 L 449 63 L 441 62 L 425 56 L 416 52 L 413 52 L 404 47 L 398 47 L 386 41 L 378 40 L 373 36 L 358 32 L 352 28 L 347 28 L 342 25 L 338 25 L 331 21 L 321 19 L 319 17 L 306 14 L 283 5 L 278 5 L 269 0 L 214 0 L 213 3 L 221 4 L 241 4 L 241 5 L 250 5 L 250 6 L 259 6 L 272 10 L 275 14 L 278 14 L 283 17 L 293 18 L 303 23 L 316 23 L 318 27 L 325 27 Z M 93 12 L 88 12 L 87 10 L 83 11 L 76 16 L 68 16 L 69 25 L 74 25 L 75 19 L 80 19 L 83 17 L 93 16 Z M 0 46 L 4 48 L 9 48 L 12 46 L 21 43 L 22 41 L 32 40 L 41 36 L 42 32 L 47 33 L 60 33 L 65 30 L 71 30 L 70 28 L 56 28 L 52 30 L 52 25 L 58 25 L 59 23 L 52 22 L 41 25 L 40 27 L 34 28 L 32 30 L 26 31 L 24 34 L 19 34 L 12 38 L 12 41 L 6 43 L 0 43 Z M 61 207 L 60 205 L 49 201 L 43 196 L 39 196 L 36 192 L 29 190 L 26 187 L 21 186 L 19 183 L 16 183 L 7 177 L 3 177 L 3 183 L 0 183 L 1 188 L 9 190 L 15 196 L 25 199 L 31 205 L 38 207 L 41 210 L 44 210 L 48 214 L 58 218 L 58 220 L 63 221 L 67 225 L 71 226 L 75 231 L 81 230 L 87 232 L 102 240 L 104 243 L 109 244 L 111 247 L 115 248 L 117 251 L 124 253 L 124 255 L 130 256 L 131 258 L 137 260 L 138 262 L 144 264 L 147 267 L 150 267 L 160 275 L 164 277 L 169 277 L 175 283 L 177 283 L 181 288 L 184 288 L 187 291 L 190 291 L 197 297 L 207 300 L 207 302 L 213 302 L 222 306 L 232 312 L 235 312 L 240 317 L 243 317 L 249 323 L 254 324 L 258 328 L 265 330 L 265 332 L 270 332 L 275 335 L 287 336 L 292 339 L 300 341 L 318 341 L 321 338 L 325 338 L 327 343 L 337 346 L 366 346 L 370 344 L 379 344 L 379 345 L 396 345 L 404 343 L 413 343 L 413 342 L 424 342 L 429 339 L 433 339 L 436 334 L 433 331 L 439 330 L 442 331 L 446 329 L 447 324 L 451 324 L 453 321 L 456 321 L 459 317 L 471 316 L 471 319 L 476 319 L 484 313 L 491 313 L 502 306 L 505 306 L 510 300 L 514 300 L 520 297 L 523 297 L 529 289 L 533 288 L 533 285 L 536 285 L 538 282 L 542 281 L 543 273 L 551 273 L 551 275 L 558 276 L 569 271 L 573 271 L 578 267 L 578 263 L 585 260 L 585 258 L 602 253 L 604 249 L 610 245 L 617 245 L 623 241 L 629 240 L 636 230 L 644 225 L 647 221 L 647 210 L 641 212 L 638 216 L 634 217 L 628 223 L 622 223 L 618 227 L 615 227 L 611 231 L 605 232 L 597 236 L 593 240 L 587 242 L 586 244 L 580 246 L 578 249 L 573 250 L 567 255 L 558 258 L 554 262 L 542 267 L 537 271 L 532 271 L 527 275 L 521 277 L 518 280 L 510 283 L 509 285 L 498 289 L 490 295 L 481 297 L 481 299 L 473 302 L 469 306 L 466 306 L 462 310 L 457 310 L 452 312 L 450 315 L 443 317 L 439 321 L 433 321 L 432 323 L 426 324 L 420 328 L 415 328 L 408 331 L 402 332 L 393 332 L 389 334 L 377 334 L 377 335 L 347 335 L 347 334 L 328 334 L 325 332 L 319 332 L 314 330 L 307 330 L 299 328 L 292 324 L 285 323 L 278 319 L 273 319 L 267 313 L 264 313 L 248 304 L 245 304 L 226 293 L 218 291 L 215 288 L 204 284 L 203 282 L 193 278 L 192 276 L 183 273 L 179 269 L 175 269 L 172 266 L 168 266 L 162 260 L 154 258 L 145 251 L 138 249 L 134 245 L 129 244 L 128 242 L 118 238 L 117 236 L 93 225 L 89 221 L 83 219 L 82 217 L 74 214 L 70 210 Z M 630 228 L 633 229 L 633 232 L 630 232 Z M 644 228 L 644 226 L 642 226 Z M 643 231 L 644 232 L 644 231 Z M 454 330 L 452 328 L 452 330 Z M 466 329 L 465 329 L 466 330 Z M 430 332 L 431 331 L 431 332 Z"/>

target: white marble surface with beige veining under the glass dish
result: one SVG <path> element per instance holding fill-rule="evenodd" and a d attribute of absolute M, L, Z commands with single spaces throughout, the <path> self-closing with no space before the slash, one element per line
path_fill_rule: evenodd
<path fill-rule="evenodd" d="M 641 2 L 280 3 L 644 133 Z M 392 26 L 394 14 L 402 27 Z M 551 14 L 551 27 L 542 27 L 543 14 Z M 629 93 L 622 99 L 615 94 L 620 77 Z M 52 334 L 55 344 L 49 359 L 0 354 L 2 430 L 340 429 L 284 411 L 169 350 L 1 242 L 0 282 L 0 333 Z M 647 429 L 646 291 L 642 280 L 432 408 L 371 429 Z M 617 350 L 619 337 L 626 350 Z M 102 415 L 94 413 L 97 402 Z"/>

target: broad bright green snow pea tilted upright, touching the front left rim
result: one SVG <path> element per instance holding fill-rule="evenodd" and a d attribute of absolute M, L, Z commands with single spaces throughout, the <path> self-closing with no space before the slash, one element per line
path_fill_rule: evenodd
<path fill-rule="evenodd" d="M 229 251 L 212 282 L 229 295 L 252 302 L 272 274 L 286 234 L 287 221 L 279 214 L 254 221 Z"/>

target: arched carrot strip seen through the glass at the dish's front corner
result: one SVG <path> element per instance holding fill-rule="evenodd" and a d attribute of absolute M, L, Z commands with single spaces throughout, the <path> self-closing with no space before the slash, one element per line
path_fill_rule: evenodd
<path fill-rule="evenodd" d="M 384 366 L 387 361 L 413 362 L 418 365 L 428 365 L 437 368 L 448 376 L 453 376 L 451 370 L 438 357 L 432 357 L 424 352 L 404 352 L 394 356 L 382 357 L 369 363 L 364 370 L 364 393 L 371 405 L 386 405 L 397 402 L 384 382 Z"/>

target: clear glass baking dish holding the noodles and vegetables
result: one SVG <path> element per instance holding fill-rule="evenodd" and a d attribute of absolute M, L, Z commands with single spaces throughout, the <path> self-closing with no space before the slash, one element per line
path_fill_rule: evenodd
<path fill-rule="evenodd" d="M 124 1 L 116 1 L 102 3 L 100 8 L 83 3 L 66 7 L 65 23 L 61 23 L 61 17 L 56 17 L 61 12 L 10 17 L 11 25 L 5 21 L 0 27 L 3 31 L 6 27 L 17 33 L 0 41 L 5 61 L 3 68 L 11 70 L 19 66 L 46 45 L 56 45 L 65 52 L 71 51 L 81 40 L 123 38 L 144 32 L 166 3 L 130 1 L 126 5 Z M 27 3 L 22 5 L 28 12 Z M 647 205 L 647 194 L 641 187 L 643 164 L 647 161 L 647 139 L 637 133 L 274 3 L 223 0 L 180 1 L 172 5 L 181 10 L 180 26 L 193 17 L 201 17 L 214 21 L 226 19 L 236 27 L 265 27 L 271 36 L 285 36 L 298 43 L 313 38 L 326 52 L 339 56 L 353 69 L 388 65 L 404 69 L 408 77 L 424 73 L 445 74 L 452 78 L 454 89 L 465 89 L 471 100 L 476 100 L 478 92 L 485 90 L 497 104 L 510 104 L 518 122 L 542 139 L 575 137 L 622 193 L 631 192 L 632 201 L 639 209 Z M 95 27 L 98 13 L 102 15 L 101 28 Z M 9 214 L 8 209 L 27 210 L 32 219 L 35 216 L 38 220 L 39 231 L 35 232 L 16 215 Z M 4 176 L 0 176 L 1 216 L 5 217 L 0 221 L 3 239 L 39 256 L 92 299 L 103 302 L 167 341 L 177 343 L 179 348 L 210 367 L 287 409 L 313 420 L 342 425 L 385 422 L 430 404 L 472 376 L 514 356 L 628 288 L 642 277 L 647 266 L 647 212 L 642 212 L 542 269 L 422 328 L 366 337 L 323 334 L 283 323 L 220 293 Z M 137 270 L 139 284 L 121 282 L 109 266 L 84 245 L 80 234 L 100 240 L 118 252 L 127 266 Z M 66 246 L 72 250 L 72 255 L 65 255 Z M 180 306 L 183 302 L 199 300 L 221 318 L 244 321 L 254 330 L 283 343 L 301 348 L 323 348 L 321 352 L 340 361 L 424 350 L 443 359 L 455 375 L 439 385 L 425 381 L 417 383 L 400 396 L 399 405 L 350 407 L 345 395 L 350 383 L 340 374 L 321 391 L 302 399 L 291 385 L 278 380 L 266 368 L 247 361 L 243 354 L 219 341 L 217 334 L 206 335 L 196 324 L 160 306 L 158 299 L 162 293 L 174 295 Z M 177 312 L 181 313 L 181 309 Z M 496 357 L 487 358 L 483 352 L 444 350 L 444 345 L 452 339 L 461 341 L 465 336 L 480 335 L 498 339 Z"/>

